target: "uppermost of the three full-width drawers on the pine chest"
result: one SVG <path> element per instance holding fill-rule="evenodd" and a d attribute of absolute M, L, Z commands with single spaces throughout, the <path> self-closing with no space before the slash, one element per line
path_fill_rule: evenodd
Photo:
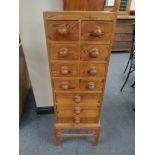
<path fill-rule="evenodd" d="M 63 107 L 96 107 L 102 102 L 99 93 L 56 93 L 55 101 L 58 108 Z"/>

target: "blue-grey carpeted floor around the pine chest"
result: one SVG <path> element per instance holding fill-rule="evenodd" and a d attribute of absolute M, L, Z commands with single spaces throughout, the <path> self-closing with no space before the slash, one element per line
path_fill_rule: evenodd
<path fill-rule="evenodd" d="M 53 114 L 37 115 L 31 92 L 20 120 L 20 155 L 134 155 L 135 90 L 130 87 L 134 74 L 120 92 L 126 78 L 123 70 L 128 57 L 128 53 L 111 55 L 97 146 L 91 145 L 91 138 L 63 138 L 61 147 L 55 147 Z"/>

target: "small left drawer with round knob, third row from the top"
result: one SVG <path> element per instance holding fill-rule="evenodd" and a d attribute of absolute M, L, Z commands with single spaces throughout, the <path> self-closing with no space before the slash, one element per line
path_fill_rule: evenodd
<path fill-rule="evenodd" d="M 73 77 L 78 75 L 78 63 L 52 63 L 53 77 Z"/>

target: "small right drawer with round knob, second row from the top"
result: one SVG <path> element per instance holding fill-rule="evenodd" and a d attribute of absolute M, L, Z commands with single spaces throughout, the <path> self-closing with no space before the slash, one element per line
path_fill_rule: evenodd
<path fill-rule="evenodd" d="M 109 45 L 87 45 L 80 46 L 80 59 L 86 61 L 107 61 L 109 55 Z"/>

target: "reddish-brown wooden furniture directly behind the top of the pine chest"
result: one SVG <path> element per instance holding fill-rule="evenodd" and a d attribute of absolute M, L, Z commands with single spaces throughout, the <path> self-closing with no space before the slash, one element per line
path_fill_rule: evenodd
<path fill-rule="evenodd" d="M 70 11 L 101 11 L 104 0 L 63 0 L 63 8 Z"/>

